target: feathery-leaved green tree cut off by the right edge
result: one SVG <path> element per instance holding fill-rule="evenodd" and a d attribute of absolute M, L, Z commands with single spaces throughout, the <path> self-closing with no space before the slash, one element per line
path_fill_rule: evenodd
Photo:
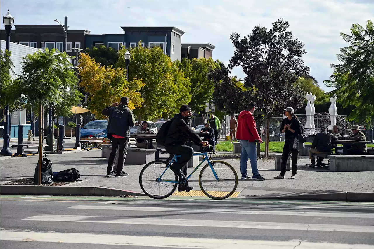
<path fill-rule="evenodd" d="M 335 87 L 331 94 L 338 96 L 343 107 L 354 107 L 350 119 L 370 122 L 374 117 L 374 25 L 353 24 L 351 34 L 340 33 L 350 45 L 337 55 L 341 64 L 331 64 L 334 74 L 325 85 Z"/>

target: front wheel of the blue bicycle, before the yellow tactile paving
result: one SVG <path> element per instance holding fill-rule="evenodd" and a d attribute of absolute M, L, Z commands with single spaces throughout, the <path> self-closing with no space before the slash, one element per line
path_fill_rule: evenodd
<path fill-rule="evenodd" d="M 230 197 L 237 187 L 237 174 L 234 168 L 224 161 L 213 161 L 206 164 L 199 175 L 199 185 L 209 198 L 223 200 Z M 218 180 L 217 180 L 217 178 Z"/>

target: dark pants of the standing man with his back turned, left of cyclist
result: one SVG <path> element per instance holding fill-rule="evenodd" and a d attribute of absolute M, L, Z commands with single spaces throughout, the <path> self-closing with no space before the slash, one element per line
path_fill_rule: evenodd
<path fill-rule="evenodd" d="M 113 161 L 114 157 L 116 157 L 117 147 L 119 146 L 118 150 L 118 161 L 117 161 L 117 170 L 116 175 L 119 176 L 123 170 L 123 161 L 126 158 L 127 148 L 129 147 L 129 138 L 112 138 L 112 151 L 110 152 L 109 160 L 108 160 L 108 167 L 107 167 L 107 174 L 113 170 Z"/>

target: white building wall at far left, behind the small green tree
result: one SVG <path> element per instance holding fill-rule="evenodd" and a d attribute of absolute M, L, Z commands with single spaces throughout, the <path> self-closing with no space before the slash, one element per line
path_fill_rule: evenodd
<path fill-rule="evenodd" d="M 4 52 L 5 48 L 6 48 L 6 41 L 0 40 L 0 50 Z M 42 51 L 42 49 L 40 48 L 33 48 L 33 47 L 17 44 L 14 42 L 10 43 L 9 49 L 12 52 L 12 56 L 10 58 L 12 59 L 12 62 L 14 64 L 14 67 L 13 67 L 14 75 L 12 75 L 11 73 L 11 76 L 13 78 L 16 78 L 16 75 L 19 75 L 21 73 L 21 69 L 22 69 L 21 62 L 23 61 L 22 57 L 25 57 L 28 54 L 34 54 L 37 51 Z"/>

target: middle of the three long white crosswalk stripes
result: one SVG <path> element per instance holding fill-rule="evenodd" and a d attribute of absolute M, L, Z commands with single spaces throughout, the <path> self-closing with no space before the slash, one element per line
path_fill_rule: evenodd
<path fill-rule="evenodd" d="M 36 215 L 25 218 L 26 221 L 66 221 L 89 223 L 114 223 L 137 225 L 164 225 L 182 227 L 226 227 L 226 228 L 255 228 L 300 231 L 336 231 L 351 233 L 374 233 L 372 226 L 335 225 L 335 224 L 302 224 L 279 222 L 249 222 L 249 221 L 219 221 L 193 219 L 159 219 L 159 218 L 119 218 L 107 216 L 84 215 Z"/>

